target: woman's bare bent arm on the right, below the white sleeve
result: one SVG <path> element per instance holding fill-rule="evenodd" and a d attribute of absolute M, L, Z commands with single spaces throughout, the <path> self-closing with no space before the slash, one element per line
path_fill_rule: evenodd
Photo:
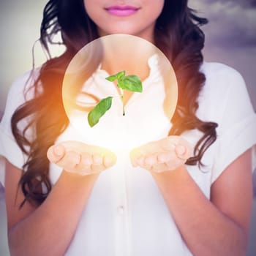
<path fill-rule="evenodd" d="M 138 157 L 137 162 L 133 161 L 135 165 L 151 171 L 192 254 L 246 255 L 252 207 L 251 151 L 238 157 L 214 181 L 211 200 L 197 187 L 185 165 L 171 171 L 156 172 L 154 166 L 159 165 L 159 159 L 151 156 L 144 155 L 143 159 Z M 148 159 L 151 165 L 148 165 Z M 171 161 L 173 159 L 169 159 Z M 165 162 L 161 165 L 167 167 Z"/>

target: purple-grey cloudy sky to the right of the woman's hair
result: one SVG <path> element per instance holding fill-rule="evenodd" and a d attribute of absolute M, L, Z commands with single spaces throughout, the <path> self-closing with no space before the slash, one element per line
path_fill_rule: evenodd
<path fill-rule="evenodd" d="M 190 6 L 209 20 L 205 59 L 238 69 L 256 109 L 256 0 L 190 0 Z"/>

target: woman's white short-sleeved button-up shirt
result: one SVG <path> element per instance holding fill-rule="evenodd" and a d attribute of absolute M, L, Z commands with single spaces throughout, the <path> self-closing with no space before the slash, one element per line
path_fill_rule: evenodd
<path fill-rule="evenodd" d="M 157 59 L 150 59 L 148 65 L 151 72 L 143 83 L 143 93 L 134 94 L 129 100 L 126 116 L 122 116 L 121 101 L 116 98 L 111 110 L 94 128 L 88 125 L 82 134 L 72 123 L 56 140 L 56 143 L 82 140 L 105 146 L 114 151 L 118 159 L 115 166 L 97 179 L 66 255 L 192 255 L 151 174 L 140 167 L 132 167 L 129 162 L 131 148 L 165 138 L 171 127 L 163 111 L 165 89 Z M 202 71 L 206 84 L 200 92 L 197 116 L 219 124 L 217 141 L 203 156 L 205 167 L 200 170 L 197 166 L 187 166 L 187 170 L 204 195 L 210 198 L 211 184 L 231 162 L 255 145 L 256 115 L 238 72 L 217 63 L 204 63 Z M 97 86 L 108 83 L 105 88 L 115 94 L 106 76 L 108 73 L 97 69 L 86 84 L 86 90 L 101 97 L 101 87 Z M 25 80 L 22 77 L 13 84 L 0 125 L 0 155 L 17 167 L 23 165 L 23 155 L 13 140 L 10 118 L 22 102 L 17 99 L 17 91 L 22 91 Z M 182 136 L 195 146 L 201 135 L 191 130 Z M 50 165 L 53 185 L 60 173 L 59 167 Z"/>

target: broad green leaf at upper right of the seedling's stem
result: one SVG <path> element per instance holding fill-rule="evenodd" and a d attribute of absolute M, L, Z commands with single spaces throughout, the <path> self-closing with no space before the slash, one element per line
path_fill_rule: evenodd
<path fill-rule="evenodd" d="M 118 87 L 128 91 L 142 92 L 142 83 L 137 75 L 127 75 L 118 79 Z"/>

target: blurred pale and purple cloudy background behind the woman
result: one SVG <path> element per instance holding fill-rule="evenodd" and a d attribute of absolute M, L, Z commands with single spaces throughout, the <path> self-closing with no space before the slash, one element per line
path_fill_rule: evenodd
<path fill-rule="evenodd" d="M 46 2 L 46 0 L 0 1 L 0 116 L 4 111 L 7 91 L 11 83 L 32 67 L 32 47 L 39 38 L 42 10 Z M 256 110 L 256 0 L 189 0 L 189 5 L 195 8 L 200 16 L 209 20 L 208 25 L 203 27 L 206 34 L 206 47 L 203 50 L 205 60 L 222 62 L 241 72 Z M 59 54 L 58 49 L 56 54 Z M 39 42 L 34 46 L 34 55 L 36 66 L 45 61 Z M 9 255 L 2 187 L 0 187 L 0 255 Z M 246 256 L 255 255 L 256 192 Z"/>

